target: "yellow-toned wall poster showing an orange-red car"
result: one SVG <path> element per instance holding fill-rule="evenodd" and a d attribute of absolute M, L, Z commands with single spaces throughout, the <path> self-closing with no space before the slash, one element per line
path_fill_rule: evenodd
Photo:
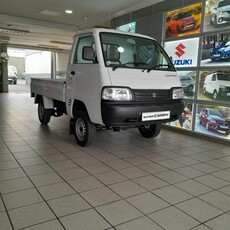
<path fill-rule="evenodd" d="M 202 3 L 186 6 L 166 13 L 165 38 L 200 33 Z"/>

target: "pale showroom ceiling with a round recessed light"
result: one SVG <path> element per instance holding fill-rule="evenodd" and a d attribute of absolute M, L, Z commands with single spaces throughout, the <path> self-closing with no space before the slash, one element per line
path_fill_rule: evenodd
<path fill-rule="evenodd" d="M 164 0 L 1 0 L 0 42 L 69 50 L 77 31 Z M 72 10 L 66 14 L 65 10 Z"/>

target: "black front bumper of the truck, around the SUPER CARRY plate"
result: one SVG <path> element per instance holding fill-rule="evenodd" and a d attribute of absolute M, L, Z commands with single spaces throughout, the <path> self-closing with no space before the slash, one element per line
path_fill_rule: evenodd
<path fill-rule="evenodd" d="M 178 119 L 183 112 L 182 100 L 167 101 L 160 104 L 151 102 L 101 102 L 102 121 L 106 126 L 129 127 L 143 124 L 165 123 Z M 170 111 L 170 118 L 164 120 L 142 121 L 142 113 Z"/>

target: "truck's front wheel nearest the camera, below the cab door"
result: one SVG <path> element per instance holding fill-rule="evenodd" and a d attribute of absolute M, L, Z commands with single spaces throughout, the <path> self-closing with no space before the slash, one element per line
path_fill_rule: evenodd
<path fill-rule="evenodd" d="M 93 124 L 88 115 L 79 111 L 75 116 L 74 136 L 78 145 L 82 147 L 93 144 L 96 137 L 96 126 Z"/>

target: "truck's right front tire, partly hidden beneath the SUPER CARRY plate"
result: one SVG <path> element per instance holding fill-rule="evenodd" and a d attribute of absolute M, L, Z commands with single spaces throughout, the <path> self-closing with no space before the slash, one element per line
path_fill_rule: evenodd
<path fill-rule="evenodd" d="M 140 125 L 138 130 L 142 137 L 154 138 L 161 132 L 161 124 Z"/>

